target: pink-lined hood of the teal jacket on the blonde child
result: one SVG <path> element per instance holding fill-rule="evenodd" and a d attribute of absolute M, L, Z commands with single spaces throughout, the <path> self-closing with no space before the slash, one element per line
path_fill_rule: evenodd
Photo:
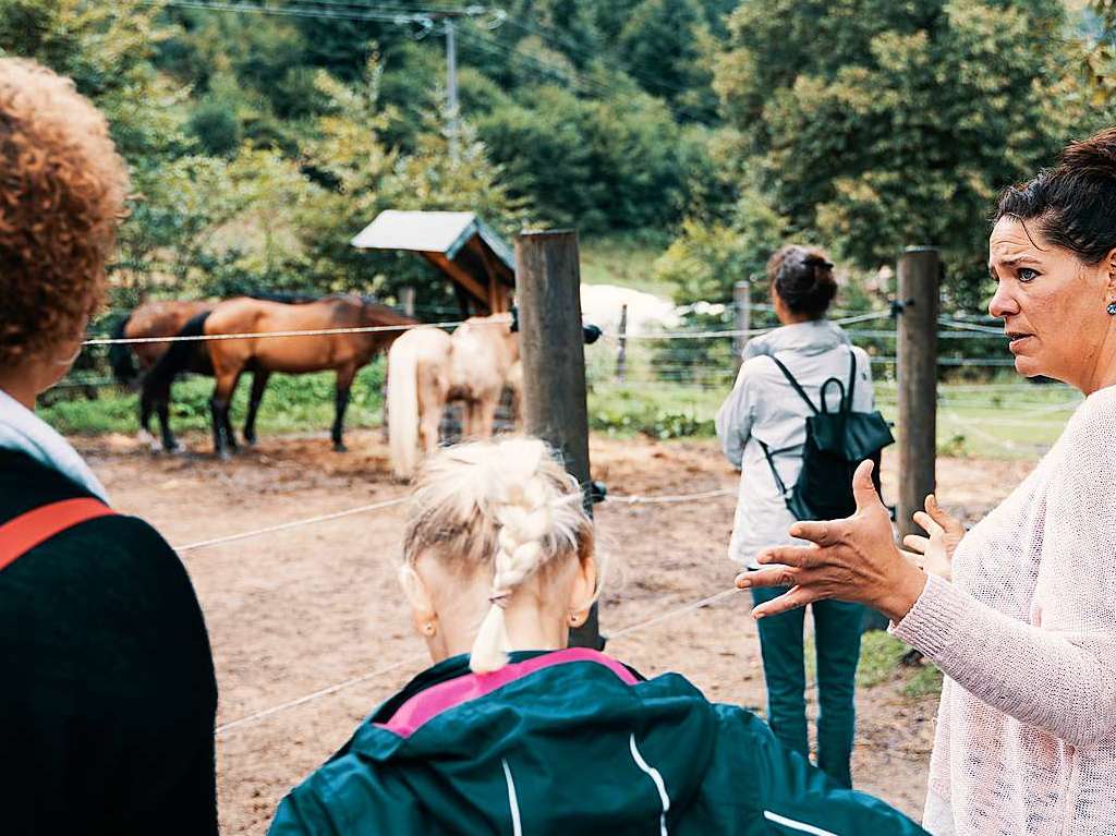
<path fill-rule="evenodd" d="M 424 806 L 424 827 L 437 832 L 624 833 L 642 821 L 651 833 L 693 799 L 715 727 L 681 676 L 647 682 L 594 651 L 514 653 L 480 675 L 455 656 L 379 709 L 341 755 L 362 772 L 421 763 L 407 777 L 411 804 L 439 799 Z M 333 762 L 344 775 L 335 786 L 356 777 L 346 758 Z"/>

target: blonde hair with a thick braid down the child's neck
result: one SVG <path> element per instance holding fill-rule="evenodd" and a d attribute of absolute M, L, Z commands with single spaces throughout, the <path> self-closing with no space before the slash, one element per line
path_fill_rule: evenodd
<path fill-rule="evenodd" d="M 581 490 L 538 439 L 459 444 L 426 460 L 403 544 L 404 569 L 433 550 L 470 570 L 490 567 L 491 605 L 470 667 L 502 667 L 509 638 L 504 608 L 519 586 L 556 558 L 593 557 L 593 525 Z"/>

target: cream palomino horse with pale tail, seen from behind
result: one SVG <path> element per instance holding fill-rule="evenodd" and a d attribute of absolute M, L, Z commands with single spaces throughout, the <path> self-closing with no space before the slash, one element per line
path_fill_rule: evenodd
<path fill-rule="evenodd" d="M 439 328 L 415 328 L 400 337 L 387 354 L 387 424 L 392 468 L 410 479 L 419 446 L 437 446 L 442 412 L 450 401 L 464 401 L 466 436 L 492 434 L 504 386 L 518 404 L 522 383 L 519 335 L 510 314 L 472 317 L 453 336 Z"/>

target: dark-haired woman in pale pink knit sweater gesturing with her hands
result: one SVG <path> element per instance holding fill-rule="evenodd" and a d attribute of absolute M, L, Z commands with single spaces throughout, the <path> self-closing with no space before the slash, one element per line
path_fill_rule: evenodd
<path fill-rule="evenodd" d="M 990 310 L 1004 320 L 1017 371 L 1086 395 L 1054 449 L 960 542 L 927 498 L 934 519 L 920 519 L 931 536 L 907 546 L 939 571 L 895 548 L 866 464 L 853 517 L 797 523 L 791 534 L 812 545 L 768 549 L 759 563 L 785 566 L 741 576 L 738 586 L 791 587 L 757 607 L 757 618 L 822 598 L 869 604 L 942 669 L 923 823 L 932 834 L 1110 836 L 1116 128 L 1008 189 L 989 252 L 998 285 Z"/>

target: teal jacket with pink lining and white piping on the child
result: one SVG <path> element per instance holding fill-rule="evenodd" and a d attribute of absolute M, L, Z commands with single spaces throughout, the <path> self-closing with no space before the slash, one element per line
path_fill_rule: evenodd
<path fill-rule="evenodd" d="M 914 836 L 742 709 L 596 651 L 420 674 L 280 804 L 270 836 Z"/>

